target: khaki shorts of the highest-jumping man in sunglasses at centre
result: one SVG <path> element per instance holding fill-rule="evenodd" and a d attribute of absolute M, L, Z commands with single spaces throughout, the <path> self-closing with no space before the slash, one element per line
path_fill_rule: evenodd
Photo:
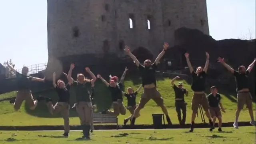
<path fill-rule="evenodd" d="M 145 104 L 148 103 L 148 101 L 152 99 L 158 106 L 162 106 L 164 104 L 164 99 L 162 98 L 160 92 L 154 88 L 144 88 L 144 92 L 140 98 L 140 103 L 138 104 L 138 107 L 144 108 Z"/>

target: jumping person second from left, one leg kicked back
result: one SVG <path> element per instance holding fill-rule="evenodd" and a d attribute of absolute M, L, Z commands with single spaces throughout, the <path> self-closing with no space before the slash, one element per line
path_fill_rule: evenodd
<path fill-rule="evenodd" d="M 64 73 L 65 74 L 65 73 Z M 65 74 L 66 75 L 66 74 Z M 68 136 L 68 133 L 70 131 L 69 126 L 69 99 L 70 99 L 70 84 L 72 81 L 69 81 L 66 85 L 62 80 L 58 80 L 56 84 L 56 73 L 54 72 L 52 75 L 52 84 L 58 94 L 59 100 L 55 104 L 55 106 L 52 105 L 52 99 L 51 98 L 45 98 L 46 99 L 46 105 L 50 111 L 50 114 L 54 115 L 57 113 L 61 113 L 62 118 L 64 119 L 64 134 L 63 136 Z"/>

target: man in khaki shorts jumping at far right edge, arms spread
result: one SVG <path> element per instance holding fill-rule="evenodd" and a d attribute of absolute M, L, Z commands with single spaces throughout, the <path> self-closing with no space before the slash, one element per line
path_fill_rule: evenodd
<path fill-rule="evenodd" d="M 236 109 L 236 116 L 235 122 L 233 124 L 234 128 L 238 128 L 238 117 L 240 111 L 243 109 L 244 104 L 246 104 L 249 114 L 251 117 L 250 124 L 255 126 L 253 110 L 252 110 L 252 95 L 249 90 L 249 78 L 248 75 L 255 64 L 255 58 L 252 64 L 250 64 L 246 70 L 245 66 L 239 66 L 238 71 L 231 68 L 226 62 L 224 58 L 218 58 L 218 62 L 220 62 L 225 68 L 227 68 L 232 74 L 235 76 L 236 80 L 236 91 L 237 91 L 237 109 Z"/>

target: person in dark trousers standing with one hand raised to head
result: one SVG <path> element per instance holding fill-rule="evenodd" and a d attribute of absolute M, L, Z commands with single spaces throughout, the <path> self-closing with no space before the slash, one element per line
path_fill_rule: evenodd
<path fill-rule="evenodd" d="M 182 82 L 179 82 L 178 86 L 174 84 L 174 81 L 178 78 L 180 77 L 176 76 L 174 79 L 172 79 L 171 84 L 175 92 L 175 107 L 176 107 L 178 120 L 180 122 L 180 125 L 184 125 L 186 122 L 186 112 L 187 112 L 187 106 L 186 106 L 187 104 L 184 100 L 184 94 L 188 96 L 188 91 L 182 87 Z M 182 119 L 181 119 L 180 110 L 182 110 Z"/>

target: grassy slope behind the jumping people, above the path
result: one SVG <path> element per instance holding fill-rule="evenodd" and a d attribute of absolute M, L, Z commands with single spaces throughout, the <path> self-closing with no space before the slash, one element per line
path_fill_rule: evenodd
<path fill-rule="evenodd" d="M 177 81 L 176 83 L 178 82 L 179 81 Z M 189 91 L 189 96 L 186 97 L 186 102 L 188 103 L 186 123 L 190 123 L 192 90 L 189 84 L 187 84 L 185 81 L 183 81 L 183 83 L 184 83 L 184 87 Z M 132 80 L 126 80 L 124 82 L 124 85 L 125 85 L 125 89 L 129 86 L 132 86 L 134 89 L 136 89 L 140 84 Z M 158 85 L 158 90 L 160 91 L 160 93 L 162 94 L 162 97 L 164 98 L 164 103 L 168 107 L 168 112 L 170 117 L 172 118 L 172 122 L 178 123 L 178 119 L 176 117 L 176 111 L 174 108 L 174 90 L 170 86 L 170 79 L 158 80 L 157 85 Z M 102 84 L 100 80 L 97 80 L 95 89 L 96 89 L 95 103 L 97 104 L 99 111 L 104 108 L 110 107 L 111 98 L 106 86 L 104 86 L 104 84 Z M 4 96 L 8 97 L 11 94 L 13 95 L 13 93 L 5 94 L 5 95 L 3 94 L 2 96 L 0 95 L 0 97 L 4 97 Z M 43 96 L 51 97 L 54 100 L 58 99 L 56 92 L 54 92 L 53 90 L 44 92 L 44 93 L 39 93 L 39 94 Z M 39 94 L 35 94 L 35 96 Z M 138 94 L 137 102 L 139 102 L 141 94 L 142 94 L 142 91 L 140 91 Z M 222 103 L 226 108 L 226 114 L 223 114 L 223 122 L 234 121 L 234 113 L 236 110 L 235 100 L 236 98 L 232 95 L 222 94 Z M 72 91 L 71 104 L 73 103 L 74 103 L 74 93 Z M 126 105 L 126 103 L 127 103 L 126 98 L 124 98 L 124 104 Z M 255 108 L 255 104 L 254 104 L 254 108 Z M 136 124 L 152 124 L 152 116 L 151 116 L 152 113 L 162 113 L 162 112 L 161 112 L 161 109 L 156 106 L 154 101 L 150 100 L 150 102 L 146 104 L 145 108 L 141 110 L 141 117 L 136 120 Z M 122 124 L 123 119 L 125 117 L 128 117 L 129 115 L 130 115 L 129 112 L 127 111 L 127 114 L 125 116 L 119 116 L 118 117 L 119 123 Z M 51 116 L 47 110 L 45 102 L 40 102 L 38 104 L 38 107 L 34 111 L 29 110 L 29 108 L 24 103 L 18 112 L 14 112 L 13 106 L 9 104 L 8 101 L 0 102 L 0 116 L 1 116 L 1 125 L 9 125 L 9 126 L 62 125 L 62 118 L 60 117 L 60 114 L 56 116 Z M 70 117 L 71 117 L 70 124 L 77 125 L 80 123 L 75 110 L 70 110 Z M 250 116 L 246 109 L 244 109 L 244 111 L 241 112 L 239 120 L 240 121 L 250 120 Z M 201 122 L 201 118 L 197 118 L 196 122 L 197 123 Z"/>

